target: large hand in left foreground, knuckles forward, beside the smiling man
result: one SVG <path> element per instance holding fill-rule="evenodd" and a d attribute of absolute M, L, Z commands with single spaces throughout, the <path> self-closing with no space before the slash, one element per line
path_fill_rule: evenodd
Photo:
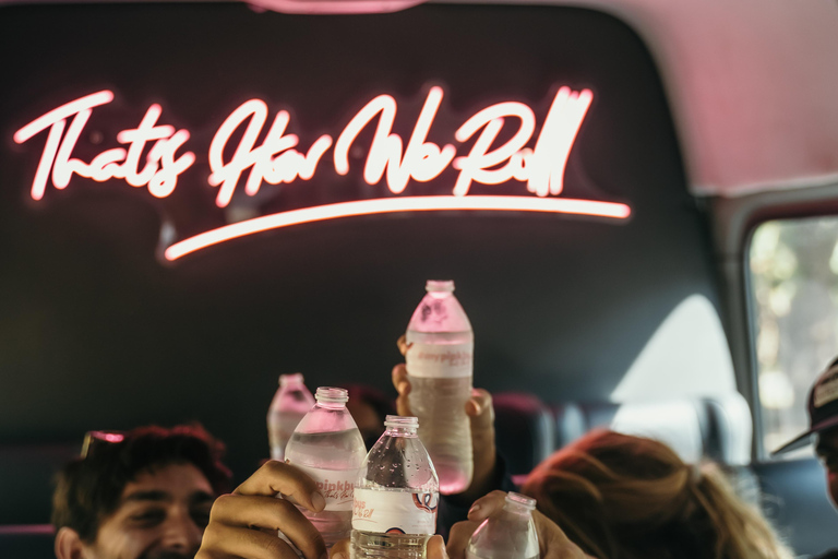
<path fill-rule="evenodd" d="M 195 559 L 297 559 L 278 531 L 306 559 L 326 559 L 318 531 L 289 500 L 277 499 L 277 493 L 315 512 L 326 502 L 309 476 L 288 464 L 266 462 L 232 493 L 216 499 Z"/>

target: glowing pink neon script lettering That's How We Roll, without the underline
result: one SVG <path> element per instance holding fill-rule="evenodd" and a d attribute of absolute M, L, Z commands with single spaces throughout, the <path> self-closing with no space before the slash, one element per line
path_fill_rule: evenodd
<path fill-rule="evenodd" d="M 311 179 L 333 145 L 335 171 L 346 175 L 350 150 L 360 132 L 373 126 L 375 119 L 375 132 L 363 168 L 363 179 L 369 185 L 385 179 L 390 191 L 399 194 L 410 180 L 428 182 L 451 167 L 459 171 L 452 192 L 456 197 L 468 194 L 472 183 L 500 185 L 512 179 L 526 182 L 527 190 L 538 197 L 562 193 L 567 157 L 592 99 L 590 91 L 560 88 L 531 148 L 527 144 L 536 129 L 536 117 L 527 105 L 506 102 L 478 111 L 454 134 L 457 143 L 475 139 L 469 153 L 460 156 L 454 144 L 440 146 L 428 140 L 442 98 L 441 87 L 429 90 L 407 143 L 393 132 L 398 109 L 396 100 L 390 95 L 379 95 L 349 120 L 336 141 L 328 134 L 321 135 L 306 153 L 297 150 L 299 138 L 286 133 L 290 116 L 285 110 L 277 112 L 261 145 L 256 145 L 267 123 L 268 109 L 263 100 L 248 100 L 227 117 L 210 145 L 207 182 L 218 188 L 216 204 L 225 207 L 230 203 L 246 173 L 244 191 L 250 195 L 259 192 L 263 182 L 279 185 Z M 159 105 L 149 106 L 135 129 L 117 134 L 117 142 L 127 148 L 106 150 L 89 163 L 72 156 L 93 109 L 112 99 L 110 91 L 81 97 L 15 132 L 14 141 L 20 144 L 41 131 L 49 131 L 32 185 L 32 198 L 40 200 L 50 180 L 57 189 L 67 188 L 74 174 L 100 182 L 123 179 L 132 187 L 147 187 L 157 198 L 171 194 L 178 177 L 192 166 L 195 155 L 192 152 L 178 155 L 190 133 L 158 124 Z M 243 134 L 232 156 L 224 160 L 224 153 L 229 153 L 228 144 L 241 127 L 244 127 Z M 511 127 L 512 135 L 502 145 L 494 146 L 504 127 Z M 151 150 L 141 168 L 140 159 L 147 144 Z"/>

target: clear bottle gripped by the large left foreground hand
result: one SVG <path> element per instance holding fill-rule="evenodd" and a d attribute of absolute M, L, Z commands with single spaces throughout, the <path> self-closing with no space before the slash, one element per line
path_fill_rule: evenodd
<path fill-rule="evenodd" d="M 300 510 L 331 548 L 349 537 L 352 528 L 354 488 L 367 447 L 346 408 L 346 390 L 321 386 L 314 397 L 318 402 L 294 430 L 285 457 L 306 472 L 325 497 L 321 512 Z"/>

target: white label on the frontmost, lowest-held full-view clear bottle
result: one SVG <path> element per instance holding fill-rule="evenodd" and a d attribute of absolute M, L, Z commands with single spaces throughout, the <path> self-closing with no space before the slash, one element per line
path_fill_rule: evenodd
<path fill-rule="evenodd" d="M 436 492 L 355 490 L 352 530 L 375 534 L 433 534 L 436 532 Z"/>

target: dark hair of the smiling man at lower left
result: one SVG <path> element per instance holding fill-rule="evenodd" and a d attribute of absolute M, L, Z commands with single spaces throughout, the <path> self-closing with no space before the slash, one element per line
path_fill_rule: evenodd
<path fill-rule="evenodd" d="M 101 522 L 119 507 L 125 485 L 144 472 L 189 463 L 204 474 L 216 495 L 230 490 L 230 471 L 222 463 L 224 443 L 197 424 L 139 427 L 94 442 L 86 455 L 58 474 L 52 495 L 52 525 L 74 530 L 87 544 L 96 540 Z"/>

